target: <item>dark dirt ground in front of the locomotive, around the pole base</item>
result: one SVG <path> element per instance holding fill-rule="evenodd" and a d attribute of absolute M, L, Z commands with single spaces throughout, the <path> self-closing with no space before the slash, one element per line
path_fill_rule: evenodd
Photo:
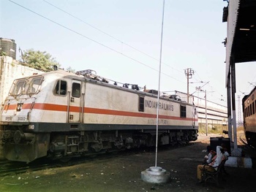
<path fill-rule="evenodd" d="M 155 164 L 152 150 L 0 177 L 0 191 L 255 191 L 256 169 L 226 167 L 228 175 L 221 187 L 197 184 L 197 164 L 206 155 L 203 150 L 210 137 L 201 135 L 192 145 L 158 151 L 157 166 L 170 172 L 169 183 L 152 184 L 140 179 L 140 173 Z"/>

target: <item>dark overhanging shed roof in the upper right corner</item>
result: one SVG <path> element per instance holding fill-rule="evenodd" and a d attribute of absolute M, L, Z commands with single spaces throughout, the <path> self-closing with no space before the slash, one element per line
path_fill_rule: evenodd
<path fill-rule="evenodd" d="M 226 75 L 230 72 L 231 56 L 234 63 L 256 61 L 255 18 L 256 0 L 233 0 L 223 9 L 222 21 L 227 21 Z"/>

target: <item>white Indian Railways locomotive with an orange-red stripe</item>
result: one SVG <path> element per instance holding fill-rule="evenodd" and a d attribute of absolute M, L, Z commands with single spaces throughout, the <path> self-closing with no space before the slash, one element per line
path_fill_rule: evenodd
<path fill-rule="evenodd" d="M 1 110 L 4 156 L 30 162 L 197 139 L 196 107 L 92 70 L 57 70 L 15 80 Z M 129 88 L 130 86 L 130 88 Z"/>

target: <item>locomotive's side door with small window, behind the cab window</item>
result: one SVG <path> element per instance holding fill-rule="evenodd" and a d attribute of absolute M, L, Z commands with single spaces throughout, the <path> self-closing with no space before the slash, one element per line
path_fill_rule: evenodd
<path fill-rule="evenodd" d="M 69 86 L 68 91 L 68 114 L 67 119 L 68 123 L 80 123 L 82 120 L 82 107 L 83 102 L 81 99 L 82 96 L 82 87 L 79 80 L 72 80 L 71 85 Z"/>

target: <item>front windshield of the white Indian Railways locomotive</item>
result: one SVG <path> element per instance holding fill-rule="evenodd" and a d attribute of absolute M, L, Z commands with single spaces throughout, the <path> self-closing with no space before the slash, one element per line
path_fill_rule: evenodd
<path fill-rule="evenodd" d="M 34 94 L 42 84 L 42 77 L 31 77 L 15 80 L 10 89 L 10 96 Z"/>

